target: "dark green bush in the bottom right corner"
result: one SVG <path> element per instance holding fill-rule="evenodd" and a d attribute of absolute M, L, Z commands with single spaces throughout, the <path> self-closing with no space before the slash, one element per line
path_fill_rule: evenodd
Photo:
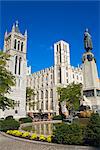
<path fill-rule="evenodd" d="M 84 132 L 84 142 L 86 145 L 100 146 L 100 116 L 97 113 L 90 117 Z"/>

